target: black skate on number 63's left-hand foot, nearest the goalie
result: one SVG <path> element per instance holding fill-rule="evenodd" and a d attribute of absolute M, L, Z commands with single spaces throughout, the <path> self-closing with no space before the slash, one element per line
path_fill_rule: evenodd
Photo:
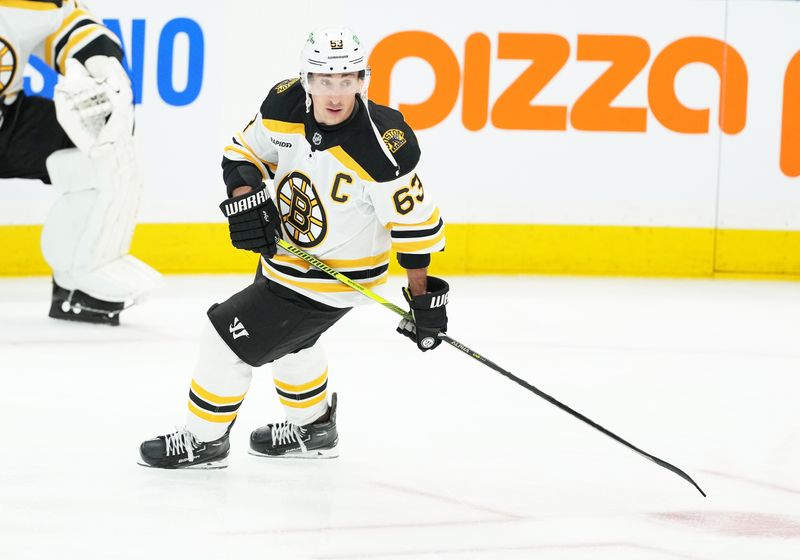
<path fill-rule="evenodd" d="M 228 441 L 231 426 L 214 441 L 197 441 L 186 429 L 148 439 L 139 446 L 139 464 L 156 469 L 224 469 L 231 450 Z"/>

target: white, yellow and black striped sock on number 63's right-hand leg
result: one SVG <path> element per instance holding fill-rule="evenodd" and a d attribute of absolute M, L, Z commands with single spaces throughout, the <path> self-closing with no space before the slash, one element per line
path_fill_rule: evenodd
<path fill-rule="evenodd" d="M 328 410 L 328 361 L 319 343 L 273 362 L 272 377 L 286 419 L 303 426 Z"/>

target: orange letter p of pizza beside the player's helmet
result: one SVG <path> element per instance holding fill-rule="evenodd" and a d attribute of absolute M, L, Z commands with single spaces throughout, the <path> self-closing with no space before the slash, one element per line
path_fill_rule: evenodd
<path fill-rule="evenodd" d="M 461 81 L 456 55 L 436 35 L 424 31 L 402 31 L 375 45 L 369 59 L 372 68 L 370 96 L 376 103 L 389 104 L 392 69 L 398 61 L 408 57 L 421 58 L 430 64 L 436 85 L 426 101 L 400 103 L 398 109 L 415 130 L 430 128 L 442 122 L 453 110 Z"/>

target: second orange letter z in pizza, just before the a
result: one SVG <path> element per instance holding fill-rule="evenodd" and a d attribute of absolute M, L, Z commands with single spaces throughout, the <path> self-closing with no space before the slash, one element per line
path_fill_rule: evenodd
<path fill-rule="evenodd" d="M 650 59 L 650 46 L 627 35 L 578 35 L 578 60 L 610 60 L 611 66 L 572 107 L 570 122 L 578 130 L 645 132 L 647 107 L 611 107 Z"/>

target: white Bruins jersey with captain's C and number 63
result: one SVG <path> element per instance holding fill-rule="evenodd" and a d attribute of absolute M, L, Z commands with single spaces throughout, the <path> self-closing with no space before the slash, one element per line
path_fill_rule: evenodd
<path fill-rule="evenodd" d="M 372 117 L 398 167 L 378 143 Z M 372 288 L 386 281 L 392 251 L 444 249 L 444 223 L 423 186 L 420 150 L 402 114 L 363 101 L 348 121 L 320 127 L 298 80 L 276 85 L 225 148 L 230 189 L 274 178 L 284 239 Z M 255 169 L 258 171 L 256 172 Z M 334 307 L 367 298 L 292 255 L 262 258 L 270 280 Z"/>

